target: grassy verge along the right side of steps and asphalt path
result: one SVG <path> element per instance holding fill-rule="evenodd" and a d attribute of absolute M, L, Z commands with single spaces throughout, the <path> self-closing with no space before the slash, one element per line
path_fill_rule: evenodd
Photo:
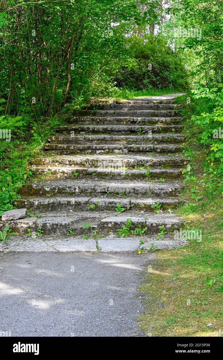
<path fill-rule="evenodd" d="M 191 166 L 182 169 L 188 203 L 176 215 L 183 217 L 185 229 L 201 230 L 202 240 L 157 252 L 140 288 L 148 311 L 139 320 L 144 332 L 155 336 L 223 335 L 222 178 L 215 171 L 217 161 L 209 160 L 210 148 L 199 142 L 201 130 L 191 120 L 193 113 L 192 103 L 184 113 L 189 140 L 184 155 Z"/>

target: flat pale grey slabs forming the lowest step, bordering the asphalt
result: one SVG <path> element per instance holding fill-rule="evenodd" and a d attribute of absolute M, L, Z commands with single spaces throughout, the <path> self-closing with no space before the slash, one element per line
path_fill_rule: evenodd
<path fill-rule="evenodd" d="M 127 238 L 118 238 L 115 232 L 111 232 L 109 236 L 99 238 L 96 240 L 93 237 L 89 237 L 87 240 L 83 239 L 81 235 L 61 235 L 49 236 L 44 235 L 44 241 L 39 238 L 35 233 L 32 234 L 32 241 L 27 235 L 20 235 L 18 237 L 10 237 L 9 241 L 0 242 L 0 252 L 10 251 L 22 252 L 22 251 L 54 251 L 54 252 L 74 252 L 74 251 L 98 251 L 100 252 L 119 252 L 119 251 L 139 251 L 140 249 L 172 249 L 177 248 L 188 243 L 187 240 L 176 240 L 170 234 L 168 237 L 157 240 L 155 235 L 143 235 L 144 243 L 140 242 L 141 238 L 131 236 Z M 120 241 L 121 240 L 121 241 Z"/>

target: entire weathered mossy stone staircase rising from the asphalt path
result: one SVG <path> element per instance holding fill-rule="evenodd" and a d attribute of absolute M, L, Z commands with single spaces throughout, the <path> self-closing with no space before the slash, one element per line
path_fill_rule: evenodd
<path fill-rule="evenodd" d="M 29 216 L 0 222 L 0 229 L 37 233 L 54 245 L 73 241 L 77 250 L 78 243 L 89 249 L 92 241 L 95 251 L 180 246 L 184 241 L 170 232 L 182 226 L 173 213 L 182 203 L 180 168 L 187 164 L 181 106 L 170 96 L 92 102 L 75 111 L 48 139 L 45 156 L 32 161 L 44 180 L 20 189 L 17 207 Z M 117 213 L 117 203 L 125 210 Z M 117 230 L 126 228 L 127 219 L 126 238 Z M 165 237 L 157 240 L 164 228 Z"/>

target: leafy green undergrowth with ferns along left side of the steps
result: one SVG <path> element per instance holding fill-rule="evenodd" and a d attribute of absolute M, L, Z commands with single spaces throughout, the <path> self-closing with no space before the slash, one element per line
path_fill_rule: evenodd
<path fill-rule="evenodd" d="M 38 121 L 25 115 L 5 116 L 4 103 L 1 99 L 0 216 L 3 211 L 16 207 L 19 188 L 32 179 L 30 160 L 42 155 L 44 143 L 59 125 L 57 115 L 40 118 Z M 3 136 L 4 134 L 8 139 Z"/>

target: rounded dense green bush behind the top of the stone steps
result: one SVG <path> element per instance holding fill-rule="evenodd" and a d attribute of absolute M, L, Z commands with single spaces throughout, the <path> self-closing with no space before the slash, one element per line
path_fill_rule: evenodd
<path fill-rule="evenodd" d="M 154 40 L 149 36 L 135 37 L 128 41 L 129 53 L 132 54 L 133 59 L 115 77 L 117 86 L 136 90 L 188 88 L 186 79 L 189 74 L 185 69 L 182 52 L 174 51 L 167 44 L 164 36 L 155 36 Z"/>

